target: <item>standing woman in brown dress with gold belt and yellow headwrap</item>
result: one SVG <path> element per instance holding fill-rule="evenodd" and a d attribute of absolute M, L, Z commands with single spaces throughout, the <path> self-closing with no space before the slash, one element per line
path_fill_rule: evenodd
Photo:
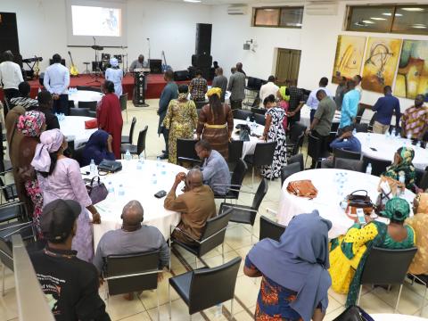
<path fill-rule="evenodd" d="M 207 92 L 209 104 L 202 107 L 199 113 L 196 134 L 198 140 L 208 141 L 217 152 L 221 153 L 227 161 L 229 154 L 229 141 L 234 130 L 234 115 L 227 103 L 221 103 L 221 89 L 211 88 Z"/>

